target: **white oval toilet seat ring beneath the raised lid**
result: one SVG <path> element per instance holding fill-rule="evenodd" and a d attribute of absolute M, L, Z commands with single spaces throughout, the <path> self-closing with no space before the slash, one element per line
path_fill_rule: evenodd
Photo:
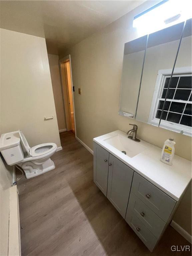
<path fill-rule="evenodd" d="M 32 157 L 43 156 L 55 150 L 56 147 L 57 145 L 55 143 L 39 144 L 31 148 L 31 155 Z"/>

